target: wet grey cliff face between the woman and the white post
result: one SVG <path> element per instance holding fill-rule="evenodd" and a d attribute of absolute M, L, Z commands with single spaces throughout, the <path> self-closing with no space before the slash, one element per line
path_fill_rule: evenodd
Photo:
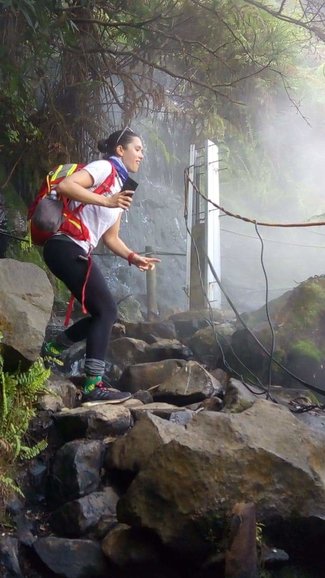
<path fill-rule="evenodd" d="M 132 207 L 125 214 L 121 237 L 133 250 L 143 253 L 147 246 L 161 259 L 156 267 L 158 314 L 186 308 L 186 228 L 184 220 L 184 169 L 189 163 L 190 139 L 157 129 L 152 133 L 138 131 L 144 141 L 145 159 L 138 175 L 139 186 Z M 159 137 L 159 140 L 158 140 Z M 151 144 L 151 143 L 154 144 Z M 125 261 L 97 253 L 117 299 L 132 294 L 140 303 L 146 302 L 146 277 Z M 167 254 L 166 254 L 167 253 Z M 170 253 L 170 254 L 169 254 Z"/>

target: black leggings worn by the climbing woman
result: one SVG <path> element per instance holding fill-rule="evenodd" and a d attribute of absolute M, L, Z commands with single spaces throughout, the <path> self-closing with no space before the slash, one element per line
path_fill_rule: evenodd
<path fill-rule="evenodd" d="M 46 242 L 43 255 L 50 271 L 81 303 L 88 268 L 86 252 L 73 241 L 52 237 Z M 74 342 L 87 338 L 86 358 L 104 361 L 117 308 L 103 274 L 93 261 L 86 284 L 85 305 L 90 317 L 77 321 L 65 334 Z"/>

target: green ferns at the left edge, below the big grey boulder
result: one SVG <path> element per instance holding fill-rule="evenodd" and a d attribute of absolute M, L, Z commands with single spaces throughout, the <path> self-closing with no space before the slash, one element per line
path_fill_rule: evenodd
<path fill-rule="evenodd" d="M 0 355 L 0 511 L 13 492 L 21 493 L 15 482 L 18 460 L 31 459 L 46 448 L 46 440 L 33 445 L 28 439 L 28 426 L 35 416 L 35 402 L 45 391 L 50 371 L 41 360 L 27 371 L 4 372 Z"/>

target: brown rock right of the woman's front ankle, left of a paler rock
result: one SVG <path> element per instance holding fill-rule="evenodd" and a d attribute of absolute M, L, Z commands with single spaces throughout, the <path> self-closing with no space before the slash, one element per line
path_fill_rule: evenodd
<path fill-rule="evenodd" d="M 183 359 L 165 359 L 152 363 L 130 365 L 123 371 L 118 388 L 131 393 L 135 393 L 139 389 L 149 389 L 177 373 L 184 365 L 186 365 L 186 361 Z"/>

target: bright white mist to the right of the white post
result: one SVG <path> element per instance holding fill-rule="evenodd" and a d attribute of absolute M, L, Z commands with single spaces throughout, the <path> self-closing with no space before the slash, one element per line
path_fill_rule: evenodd
<path fill-rule="evenodd" d="M 323 96 L 325 96 L 323 83 Z M 221 205 L 235 213 L 270 223 L 325 221 L 324 159 L 325 118 L 323 107 L 302 99 L 299 110 L 288 98 L 276 103 L 272 118 L 258 115 L 262 143 L 256 163 L 270 161 L 266 182 L 261 173 L 249 194 L 245 179 L 222 185 Z M 259 159 L 260 152 L 260 159 Z M 232 154 L 230 148 L 230 155 Z M 237 154 L 237 151 L 234 151 Z M 258 176 L 259 167 L 253 176 Z M 236 202 L 233 202 L 232 186 Z M 236 210 L 234 210 L 236 209 Z M 321 215 L 323 214 L 323 218 Z M 261 267 L 261 242 L 254 224 L 221 216 L 221 270 L 227 292 L 240 311 L 265 303 L 265 277 Z M 279 228 L 259 226 L 264 242 L 264 265 L 269 299 L 282 295 L 314 275 L 325 274 L 325 227 Z"/>

